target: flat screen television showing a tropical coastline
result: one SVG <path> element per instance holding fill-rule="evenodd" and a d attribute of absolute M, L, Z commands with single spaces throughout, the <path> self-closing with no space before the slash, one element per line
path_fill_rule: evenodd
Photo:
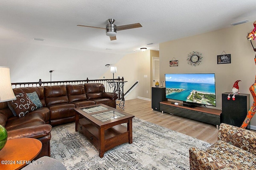
<path fill-rule="evenodd" d="M 189 107 L 216 106 L 215 73 L 165 74 L 166 98 Z"/>

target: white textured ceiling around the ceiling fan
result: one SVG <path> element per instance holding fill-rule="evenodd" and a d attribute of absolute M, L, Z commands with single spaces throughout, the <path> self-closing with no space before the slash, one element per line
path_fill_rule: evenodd
<path fill-rule="evenodd" d="M 255 7 L 256 0 L 0 0 L 0 39 L 127 54 L 141 47 L 158 50 L 159 43 L 237 21 L 253 22 Z M 110 41 L 104 29 L 76 26 L 105 27 L 108 18 L 142 27 L 117 31 L 117 40 Z"/>

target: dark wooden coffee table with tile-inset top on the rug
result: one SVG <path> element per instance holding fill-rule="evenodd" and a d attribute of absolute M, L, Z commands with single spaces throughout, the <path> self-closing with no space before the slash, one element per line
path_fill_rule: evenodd
<path fill-rule="evenodd" d="M 123 143 L 132 143 L 134 115 L 97 104 L 75 108 L 76 131 L 87 137 L 102 158 L 107 150 Z M 121 125 L 127 123 L 127 127 Z"/>

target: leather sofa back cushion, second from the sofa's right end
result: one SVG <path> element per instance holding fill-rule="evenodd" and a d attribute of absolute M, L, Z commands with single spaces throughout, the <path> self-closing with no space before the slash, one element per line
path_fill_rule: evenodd
<path fill-rule="evenodd" d="M 66 85 L 66 88 L 68 93 L 68 101 L 70 103 L 81 100 L 87 100 L 83 84 Z"/>

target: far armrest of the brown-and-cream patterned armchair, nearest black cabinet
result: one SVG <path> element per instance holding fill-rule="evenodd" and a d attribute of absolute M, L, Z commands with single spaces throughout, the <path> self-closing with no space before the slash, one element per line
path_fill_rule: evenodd
<path fill-rule="evenodd" d="M 221 123 L 218 141 L 224 141 L 256 155 L 256 132 Z"/>

